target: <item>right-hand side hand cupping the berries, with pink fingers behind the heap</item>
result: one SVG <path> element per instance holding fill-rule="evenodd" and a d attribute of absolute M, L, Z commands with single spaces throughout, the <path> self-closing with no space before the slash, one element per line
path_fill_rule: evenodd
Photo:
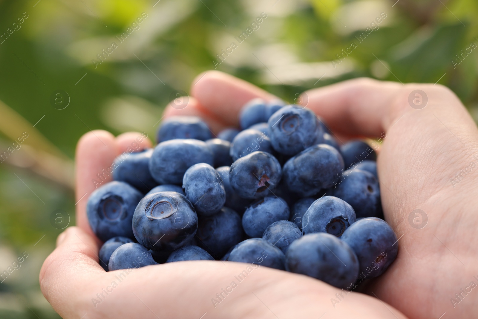
<path fill-rule="evenodd" d="M 195 114 L 210 123 L 220 118 L 237 125 L 240 106 L 252 96 L 240 99 L 246 94 L 234 95 L 236 88 L 226 84 L 232 80 L 207 74 L 198 81 L 199 88 L 192 88 L 196 104 L 189 110 L 170 106 L 166 114 Z M 200 86 L 205 80 L 207 85 Z M 223 83 L 223 88 L 214 90 L 215 83 Z M 257 90 L 245 87 L 243 91 Z M 265 93 L 254 94 L 271 99 Z M 228 95 L 237 104 L 224 104 Z M 478 131 L 460 100 L 440 85 L 367 78 L 313 89 L 300 100 L 343 142 L 369 137 L 377 149 L 383 141 L 377 161 L 382 206 L 400 238 L 400 249 L 387 272 L 369 281 L 364 291 L 410 318 L 475 318 L 478 214 L 473 192 L 478 180 L 474 174 Z"/>

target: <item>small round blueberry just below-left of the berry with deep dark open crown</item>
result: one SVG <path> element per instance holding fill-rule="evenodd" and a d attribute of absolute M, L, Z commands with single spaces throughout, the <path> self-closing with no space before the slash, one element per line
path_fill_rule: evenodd
<path fill-rule="evenodd" d="M 272 246 L 282 250 L 282 253 L 287 251 L 289 245 L 296 239 L 302 237 L 302 231 L 289 220 L 279 220 L 273 222 L 266 228 L 262 239 L 268 241 Z"/>

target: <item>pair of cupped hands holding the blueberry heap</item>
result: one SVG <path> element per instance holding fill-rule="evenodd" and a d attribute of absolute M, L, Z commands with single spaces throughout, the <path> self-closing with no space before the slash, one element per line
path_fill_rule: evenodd
<path fill-rule="evenodd" d="M 199 75 L 193 83 L 187 107 L 177 110 L 169 105 L 165 117 L 197 115 L 219 132 L 238 124 L 239 109 L 248 100 L 274 99 L 217 71 Z M 420 110 L 409 104 L 415 89 L 428 97 Z M 266 267 L 253 269 L 239 282 L 235 276 L 247 264 L 233 262 L 192 261 L 105 272 L 98 264 L 101 243 L 86 217 L 87 197 L 94 190 L 92 179 L 140 134 L 115 138 L 93 131 L 76 149 L 76 198 L 87 193 L 76 205 L 77 226 L 58 236 L 40 273 L 43 295 L 53 308 L 66 319 L 475 318 L 478 292 L 470 282 L 478 284 L 473 277 L 478 278 L 478 197 L 473 195 L 478 130 L 460 100 L 440 85 L 366 78 L 307 91 L 302 100 L 342 141 L 386 134 L 378 171 L 385 219 L 400 238 L 399 253 L 384 275 L 367 283 L 366 294 L 347 294 L 314 278 Z M 141 143 L 151 146 L 148 140 Z M 426 227 L 417 229 L 409 222 L 414 209 L 426 213 Z M 226 295 L 223 291 L 232 281 L 237 286 Z"/>

